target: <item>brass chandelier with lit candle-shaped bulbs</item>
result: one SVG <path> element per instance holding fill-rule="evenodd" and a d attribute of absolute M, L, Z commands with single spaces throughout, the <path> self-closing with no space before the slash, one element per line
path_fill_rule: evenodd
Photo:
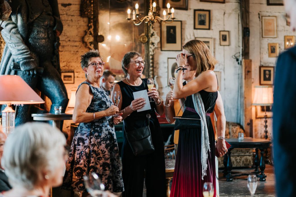
<path fill-rule="evenodd" d="M 132 13 L 132 17 L 131 18 L 131 10 L 128 9 L 127 13 L 128 13 L 128 17 L 127 20 L 128 21 L 132 21 L 134 25 L 140 25 L 142 22 L 148 23 L 148 25 L 151 25 L 155 22 L 161 23 L 161 21 L 167 21 L 169 18 L 174 20 L 174 8 L 170 9 L 170 4 L 167 4 L 167 10 L 168 12 L 166 12 L 165 10 L 163 10 L 163 18 L 157 16 L 158 12 L 156 11 L 156 3 L 153 2 L 152 4 L 152 0 L 150 0 L 150 8 L 149 8 L 149 12 L 148 12 L 148 16 L 144 16 L 142 18 L 140 18 L 140 14 L 139 14 L 139 4 L 135 5 L 135 9 L 133 10 Z M 168 15 L 168 16 L 167 16 Z"/>

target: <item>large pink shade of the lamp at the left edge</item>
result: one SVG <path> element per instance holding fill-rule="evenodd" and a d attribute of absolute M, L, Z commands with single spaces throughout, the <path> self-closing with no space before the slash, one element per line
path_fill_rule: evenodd
<path fill-rule="evenodd" d="M 44 103 L 37 93 L 17 75 L 0 75 L 0 104 Z"/>

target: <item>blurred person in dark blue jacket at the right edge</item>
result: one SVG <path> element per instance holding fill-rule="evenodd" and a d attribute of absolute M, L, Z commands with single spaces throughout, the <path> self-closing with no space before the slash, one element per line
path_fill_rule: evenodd
<path fill-rule="evenodd" d="M 284 2 L 291 29 L 296 29 L 296 0 Z M 296 193 L 296 47 L 281 53 L 276 63 L 273 110 L 273 152 L 277 196 Z"/>

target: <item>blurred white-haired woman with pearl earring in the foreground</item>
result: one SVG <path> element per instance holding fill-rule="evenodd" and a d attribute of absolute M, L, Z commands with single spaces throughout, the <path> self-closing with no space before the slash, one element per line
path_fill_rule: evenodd
<path fill-rule="evenodd" d="M 1 165 L 12 189 L 1 197 L 48 196 L 62 184 L 66 139 L 47 123 L 25 123 L 9 134 Z"/>

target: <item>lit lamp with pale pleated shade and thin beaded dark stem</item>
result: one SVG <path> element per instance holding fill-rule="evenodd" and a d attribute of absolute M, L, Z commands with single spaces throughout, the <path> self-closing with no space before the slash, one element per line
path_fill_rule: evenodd
<path fill-rule="evenodd" d="M 253 105 L 264 106 L 265 115 L 264 115 L 264 138 L 267 139 L 267 115 L 266 115 L 266 106 L 271 106 L 274 103 L 273 89 L 272 86 L 255 86 L 255 95 L 253 100 Z"/>

